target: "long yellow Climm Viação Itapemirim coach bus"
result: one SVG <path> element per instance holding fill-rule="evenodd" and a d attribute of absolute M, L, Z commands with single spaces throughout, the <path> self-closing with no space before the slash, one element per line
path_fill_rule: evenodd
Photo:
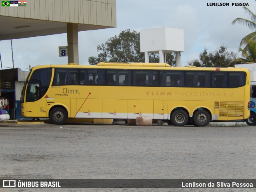
<path fill-rule="evenodd" d="M 22 116 L 136 119 L 175 126 L 244 120 L 250 115 L 250 73 L 245 68 L 170 67 L 164 63 L 36 66 L 21 98 Z"/>

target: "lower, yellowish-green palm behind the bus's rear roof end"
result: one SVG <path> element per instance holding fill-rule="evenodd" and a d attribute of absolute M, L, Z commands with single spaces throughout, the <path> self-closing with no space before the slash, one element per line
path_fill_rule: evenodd
<path fill-rule="evenodd" d="M 243 58 L 236 59 L 237 62 L 241 63 L 256 63 L 256 41 L 249 40 L 244 49 L 240 48 L 239 52 L 242 52 Z"/>

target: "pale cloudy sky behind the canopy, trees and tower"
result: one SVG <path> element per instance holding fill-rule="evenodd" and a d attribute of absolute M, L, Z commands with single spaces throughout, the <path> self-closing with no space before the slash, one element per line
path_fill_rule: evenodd
<path fill-rule="evenodd" d="M 229 6 L 207 6 L 210 2 L 229 2 Z M 128 28 L 137 32 L 160 27 L 183 29 L 182 66 L 197 59 L 205 47 L 214 51 L 224 45 L 228 51 L 238 53 L 240 40 L 252 31 L 231 24 L 238 17 L 250 19 L 243 6 L 232 6 L 232 2 L 248 3 L 247 7 L 256 12 L 255 0 L 116 0 L 116 28 L 78 33 L 79 62 L 88 65 L 88 57 L 98 55 L 98 45 Z M 66 34 L 12 40 L 14 68 L 66 64 L 67 57 L 58 56 L 58 46 L 66 45 Z M 10 40 L 0 41 L 0 52 L 3 69 L 12 67 Z"/>

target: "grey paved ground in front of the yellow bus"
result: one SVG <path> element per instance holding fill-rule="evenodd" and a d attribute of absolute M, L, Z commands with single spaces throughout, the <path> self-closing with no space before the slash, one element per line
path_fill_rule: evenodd
<path fill-rule="evenodd" d="M 244 125 L 0 124 L 0 179 L 256 179 L 255 135 Z M 192 191 L 40 191 L 181 190 Z"/>

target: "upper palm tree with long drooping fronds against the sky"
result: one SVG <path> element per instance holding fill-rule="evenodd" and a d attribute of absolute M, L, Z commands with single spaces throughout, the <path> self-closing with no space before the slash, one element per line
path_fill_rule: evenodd
<path fill-rule="evenodd" d="M 254 30 L 254 32 L 252 32 L 252 33 L 246 35 L 244 38 L 242 38 L 242 40 L 240 42 L 240 48 L 242 45 L 247 44 L 250 41 L 250 39 L 256 40 L 256 15 L 247 7 L 243 7 L 243 8 L 244 8 L 244 11 L 246 12 L 246 14 L 249 14 L 251 20 L 244 19 L 244 18 L 236 18 L 232 22 L 232 25 L 234 25 L 236 23 L 240 23 L 240 24 L 248 26 L 248 28 Z"/>

